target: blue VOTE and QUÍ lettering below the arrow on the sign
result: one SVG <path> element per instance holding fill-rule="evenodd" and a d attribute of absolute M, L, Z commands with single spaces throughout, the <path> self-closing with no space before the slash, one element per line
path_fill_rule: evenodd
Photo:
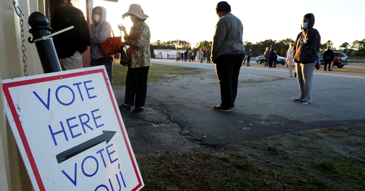
<path fill-rule="evenodd" d="M 110 144 L 110 145 L 108 145 L 108 146 L 106 146 L 105 147 L 105 149 L 104 148 L 102 148 L 102 149 L 100 149 L 99 151 L 97 151 L 95 154 L 96 154 L 96 157 L 95 156 L 86 156 L 83 160 L 82 160 L 82 163 L 81 163 L 81 171 L 82 171 L 82 174 L 85 176 L 85 177 L 92 177 L 92 176 L 95 176 L 96 174 L 97 174 L 97 172 L 99 171 L 99 161 L 100 161 L 100 159 L 103 161 L 103 164 L 104 164 L 104 167 L 105 168 L 107 168 L 107 166 L 108 165 L 110 165 L 110 164 L 112 164 L 112 163 L 114 163 L 114 162 L 116 162 L 116 161 L 118 161 L 118 158 L 115 158 L 114 160 L 112 159 L 112 157 L 111 157 L 111 155 L 113 154 L 113 153 L 115 153 L 115 150 L 112 150 L 111 151 L 111 148 L 110 147 L 112 147 L 113 146 L 113 144 Z M 103 155 L 103 151 L 105 151 L 106 150 L 106 153 L 107 153 L 107 156 L 108 156 L 108 158 L 109 158 L 109 162 L 108 163 L 106 163 L 105 162 L 105 159 L 104 159 L 104 157 L 106 157 L 106 156 L 104 156 Z M 100 154 L 100 157 L 98 157 L 99 156 L 99 154 Z M 90 163 L 88 163 L 89 164 L 89 166 L 85 166 L 86 164 L 85 164 L 85 161 L 86 160 L 92 160 L 92 163 L 90 164 Z M 95 163 L 93 163 L 95 161 Z M 119 165 L 118 165 L 119 166 Z M 85 172 L 85 169 L 95 169 L 91 174 L 88 174 L 87 172 Z M 68 179 L 68 180 L 70 180 L 70 182 L 74 185 L 74 186 L 76 186 L 77 185 L 77 175 L 81 175 L 81 174 L 79 174 L 78 172 L 77 172 L 77 170 L 78 170 L 78 168 L 77 168 L 77 163 L 75 163 L 75 165 L 74 165 L 74 169 L 73 169 L 73 175 L 72 174 L 68 174 L 66 171 L 64 171 L 64 170 L 62 170 L 61 172 L 62 172 L 62 174 L 64 174 L 65 176 L 66 176 L 66 178 Z M 123 175 L 122 175 L 122 171 L 119 171 L 119 175 L 120 175 L 120 180 L 122 180 L 122 181 L 120 181 L 119 180 L 119 176 L 118 176 L 118 173 L 117 174 L 115 174 L 115 178 L 116 178 L 116 180 L 118 181 L 118 184 L 119 184 L 119 190 L 121 190 L 121 188 L 122 188 L 122 186 L 121 186 L 121 182 L 123 182 L 123 185 L 124 185 L 124 188 L 126 188 L 126 183 L 124 182 L 124 178 L 123 178 Z M 71 177 L 73 177 L 73 178 L 71 178 Z M 112 185 L 112 183 L 111 183 L 111 180 L 110 179 L 108 179 L 109 180 L 109 184 L 110 184 L 110 188 L 111 188 L 111 190 L 112 191 L 114 191 L 114 187 L 113 187 L 113 185 Z M 106 186 L 106 185 L 104 185 L 104 184 L 100 184 L 99 186 L 97 186 L 96 188 L 95 188 L 95 190 L 98 190 L 99 188 L 105 188 L 106 190 L 109 190 L 109 187 L 108 186 Z"/>

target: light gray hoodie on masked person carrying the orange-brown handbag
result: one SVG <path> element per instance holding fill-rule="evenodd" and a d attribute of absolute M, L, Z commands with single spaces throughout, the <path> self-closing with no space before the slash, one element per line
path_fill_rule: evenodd
<path fill-rule="evenodd" d="M 107 9 L 104 7 L 94 7 L 92 9 L 92 13 L 94 12 L 95 8 L 101 9 L 101 18 L 99 21 L 99 25 L 95 27 L 95 20 L 94 17 L 92 18 L 91 24 L 89 24 L 89 32 L 90 32 L 90 58 L 91 59 L 99 59 L 101 57 L 106 57 L 101 54 L 100 48 L 97 45 L 98 43 L 102 43 L 107 40 L 111 36 L 111 29 L 110 24 L 107 22 Z M 113 57 L 113 55 L 110 55 Z"/>

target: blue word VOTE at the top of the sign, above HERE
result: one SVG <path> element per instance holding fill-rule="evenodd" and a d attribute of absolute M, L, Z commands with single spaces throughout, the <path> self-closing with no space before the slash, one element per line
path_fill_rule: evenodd
<path fill-rule="evenodd" d="M 93 98 L 96 98 L 97 97 L 97 95 L 91 95 L 91 90 L 92 89 L 95 89 L 94 87 L 88 87 L 87 84 L 89 84 L 91 82 L 92 82 L 92 80 L 82 82 L 84 84 L 84 89 L 85 89 L 85 91 L 86 91 L 86 93 L 88 95 L 88 99 L 93 99 Z M 72 85 L 77 88 L 77 91 L 80 94 L 81 101 L 84 101 L 84 96 L 82 95 L 82 91 L 81 91 L 81 87 L 82 86 L 80 86 L 82 83 L 81 82 L 78 82 L 78 83 L 74 83 Z M 65 95 L 58 93 L 61 90 L 61 88 L 62 89 L 66 88 L 66 90 L 68 90 L 67 93 L 64 93 Z M 47 110 L 50 110 L 51 88 L 48 88 L 48 92 L 47 92 L 47 96 L 46 96 L 47 97 L 47 100 L 46 100 L 47 103 L 43 100 L 45 98 L 45 96 L 42 96 L 43 97 L 43 99 L 42 99 L 41 96 L 39 96 L 39 93 L 33 91 L 33 94 L 43 104 L 43 106 L 46 107 Z M 75 95 L 74 90 L 72 89 L 72 87 L 69 87 L 67 85 L 60 85 L 59 87 L 57 87 L 56 88 L 56 91 L 54 92 L 54 94 L 55 94 L 55 98 L 57 99 L 57 102 L 59 104 L 63 105 L 63 106 L 69 106 L 69 105 L 73 104 L 74 101 L 75 101 L 75 99 L 76 99 L 76 95 Z M 69 99 L 70 97 L 72 97 L 72 100 L 70 102 L 68 102 L 68 103 L 67 102 L 64 103 L 62 101 L 64 99 L 62 99 L 60 97 L 61 95 L 63 96 L 62 98 L 67 98 L 67 99 Z"/>

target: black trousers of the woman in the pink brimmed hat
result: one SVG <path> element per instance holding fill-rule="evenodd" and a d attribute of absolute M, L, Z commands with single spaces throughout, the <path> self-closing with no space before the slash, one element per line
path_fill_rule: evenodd
<path fill-rule="evenodd" d="M 149 66 L 129 68 L 126 77 L 126 95 L 124 103 L 135 107 L 144 107 L 147 95 L 147 75 Z"/>

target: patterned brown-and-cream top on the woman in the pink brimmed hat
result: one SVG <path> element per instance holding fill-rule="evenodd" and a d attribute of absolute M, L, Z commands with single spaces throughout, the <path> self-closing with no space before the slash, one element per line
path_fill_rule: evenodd
<path fill-rule="evenodd" d="M 129 47 L 132 47 L 129 52 L 130 68 L 151 65 L 150 37 L 150 28 L 144 21 L 134 23 L 128 37 L 124 37 L 124 40 L 128 41 Z"/>

